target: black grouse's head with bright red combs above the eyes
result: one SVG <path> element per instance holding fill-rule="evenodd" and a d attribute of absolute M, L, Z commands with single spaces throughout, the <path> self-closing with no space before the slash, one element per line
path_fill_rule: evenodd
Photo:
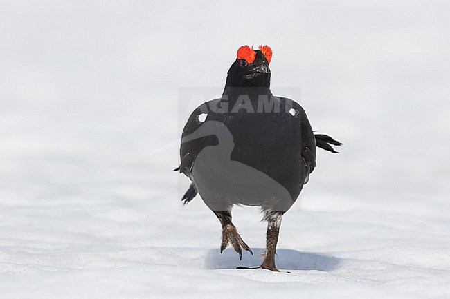
<path fill-rule="evenodd" d="M 269 87 L 272 50 L 269 46 L 241 46 L 237 50 L 236 61 L 228 70 L 226 86 L 228 87 Z"/>

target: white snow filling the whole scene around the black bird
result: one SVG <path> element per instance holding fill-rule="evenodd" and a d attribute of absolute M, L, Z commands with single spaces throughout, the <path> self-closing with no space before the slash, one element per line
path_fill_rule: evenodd
<path fill-rule="evenodd" d="M 2 1 L 0 298 L 449 298 L 449 8 Z M 235 269 L 262 261 L 256 209 L 233 213 L 254 254 L 220 254 L 172 172 L 179 88 L 220 95 L 242 44 L 344 143 L 282 220 L 282 273 Z"/>

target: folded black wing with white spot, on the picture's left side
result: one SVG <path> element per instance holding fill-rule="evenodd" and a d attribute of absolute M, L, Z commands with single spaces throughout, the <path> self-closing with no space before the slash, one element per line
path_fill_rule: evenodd
<path fill-rule="evenodd" d="M 183 133 L 181 134 L 182 139 L 183 137 L 186 137 L 197 131 L 197 129 L 201 126 L 201 124 L 204 123 L 204 121 L 201 121 L 199 117 L 205 113 L 208 115 L 210 111 L 209 108 L 217 101 L 219 101 L 219 99 L 213 99 L 209 102 L 201 104 L 199 107 L 197 107 L 197 109 L 195 109 L 192 112 L 192 114 L 188 119 L 188 122 L 186 122 L 186 125 L 183 128 Z M 198 139 L 194 139 L 188 142 L 183 142 L 183 140 L 181 140 L 180 146 L 181 164 L 179 168 L 175 170 L 179 171 L 180 173 L 184 173 L 187 177 L 190 177 L 195 158 L 197 157 L 197 155 L 199 155 L 200 151 L 203 148 L 205 148 L 205 146 L 208 146 L 210 144 L 211 144 L 210 136 L 200 137 Z"/>

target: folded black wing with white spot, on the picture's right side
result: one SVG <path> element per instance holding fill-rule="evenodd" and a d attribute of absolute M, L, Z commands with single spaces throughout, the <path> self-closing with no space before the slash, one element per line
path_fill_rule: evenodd
<path fill-rule="evenodd" d="M 316 138 L 314 137 L 314 131 L 312 131 L 305 110 L 303 110 L 300 104 L 286 97 L 280 97 L 280 101 L 282 107 L 291 107 L 291 109 L 294 109 L 294 113 L 291 112 L 292 110 L 289 110 L 289 113 L 294 116 L 296 123 L 300 126 L 300 138 L 302 140 L 301 155 L 303 160 L 305 160 L 309 173 L 312 173 L 316 167 Z"/>

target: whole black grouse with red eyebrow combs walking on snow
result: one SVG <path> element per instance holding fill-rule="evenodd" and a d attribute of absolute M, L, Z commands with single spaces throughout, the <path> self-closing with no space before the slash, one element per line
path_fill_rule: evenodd
<path fill-rule="evenodd" d="M 195 109 L 184 126 L 177 170 L 192 180 L 184 203 L 200 193 L 219 218 L 221 253 L 228 244 L 240 259 L 242 250 L 252 253 L 231 222 L 231 209 L 260 206 L 268 222 L 267 243 L 256 268 L 278 271 L 275 253 L 282 215 L 316 167 L 316 146 L 336 153 L 330 144 L 341 143 L 314 135 L 298 103 L 272 95 L 271 58 L 269 46 L 237 50 L 222 97 Z"/>

